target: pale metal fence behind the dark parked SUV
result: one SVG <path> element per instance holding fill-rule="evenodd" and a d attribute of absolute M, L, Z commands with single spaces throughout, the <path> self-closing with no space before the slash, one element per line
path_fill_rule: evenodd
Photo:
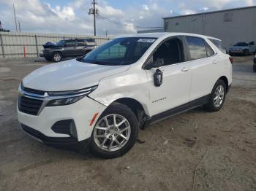
<path fill-rule="evenodd" d="M 113 37 L 113 36 L 112 36 Z M 59 42 L 61 39 L 95 39 L 98 45 L 108 42 L 112 37 L 78 34 L 35 34 L 0 32 L 0 58 L 39 57 L 42 45 L 46 42 Z"/>

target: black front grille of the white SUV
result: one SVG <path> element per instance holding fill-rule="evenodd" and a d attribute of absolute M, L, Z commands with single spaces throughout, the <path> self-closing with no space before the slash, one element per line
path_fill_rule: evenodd
<path fill-rule="evenodd" d="M 23 112 L 26 114 L 37 115 L 41 106 L 42 106 L 42 100 L 39 100 L 39 99 L 28 98 L 24 95 L 22 95 L 18 99 L 18 109 L 20 110 L 20 112 Z"/>

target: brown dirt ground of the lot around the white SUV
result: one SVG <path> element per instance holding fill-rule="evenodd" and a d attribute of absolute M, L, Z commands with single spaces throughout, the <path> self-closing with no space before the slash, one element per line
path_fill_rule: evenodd
<path fill-rule="evenodd" d="M 20 80 L 46 62 L 0 59 L 0 190 L 256 190 L 256 73 L 235 58 L 223 109 L 202 108 L 140 130 L 127 155 L 101 160 L 46 147 L 20 128 Z"/>

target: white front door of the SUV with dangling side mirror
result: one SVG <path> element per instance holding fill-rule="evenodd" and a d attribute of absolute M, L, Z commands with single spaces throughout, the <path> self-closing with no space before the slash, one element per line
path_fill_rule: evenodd
<path fill-rule="evenodd" d="M 184 54 L 181 37 L 171 37 L 162 42 L 148 61 L 148 88 L 150 90 L 151 116 L 189 102 L 192 73 Z M 146 67 L 147 68 L 147 67 Z M 156 77 L 162 72 L 162 83 Z"/>

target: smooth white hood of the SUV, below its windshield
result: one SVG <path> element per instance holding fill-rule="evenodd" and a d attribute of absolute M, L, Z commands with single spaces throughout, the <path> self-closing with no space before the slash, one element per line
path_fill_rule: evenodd
<path fill-rule="evenodd" d="M 75 59 L 53 63 L 32 71 L 23 79 L 24 87 L 43 91 L 79 90 L 98 85 L 99 80 L 129 69 L 129 66 L 105 66 Z"/>

